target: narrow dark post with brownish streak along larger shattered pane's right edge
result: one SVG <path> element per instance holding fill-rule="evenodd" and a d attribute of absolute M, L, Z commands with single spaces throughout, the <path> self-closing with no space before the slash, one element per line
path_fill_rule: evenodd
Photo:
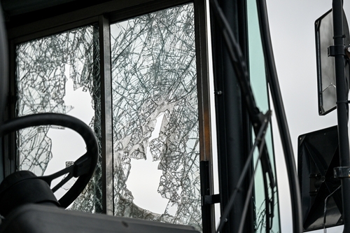
<path fill-rule="evenodd" d="M 195 0 L 195 46 L 197 64 L 197 96 L 200 122 L 200 178 L 201 196 L 214 195 L 213 160 L 211 155 L 211 106 L 209 98 L 209 67 L 207 56 L 206 1 Z M 202 202 L 203 233 L 215 232 L 214 204 Z"/>

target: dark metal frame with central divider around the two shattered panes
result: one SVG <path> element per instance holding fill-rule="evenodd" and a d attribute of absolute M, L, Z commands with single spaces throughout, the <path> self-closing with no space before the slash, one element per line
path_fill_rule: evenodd
<path fill-rule="evenodd" d="M 7 119 L 16 117 L 15 101 L 15 48 L 19 43 L 36 38 L 50 36 L 62 31 L 82 27 L 87 24 L 99 24 L 100 71 L 102 91 L 102 208 L 103 212 L 113 215 L 113 135 L 112 135 L 112 98 L 111 98 L 111 42 L 109 25 L 128 18 L 137 17 L 165 8 L 193 3 L 195 8 L 195 52 L 197 66 L 197 97 L 200 129 L 201 196 L 214 195 L 213 162 L 211 145 L 211 107 L 209 100 L 209 58 L 207 35 L 207 8 L 205 0 L 127 0 L 107 1 L 88 6 L 54 17 L 41 17 L 36 22 L 8 27 L 10 51 L 10 91 Z M 4 137 L 4 176 L 13 173 L 17 167 L 15 134 Z M 8 146 L 7 146 L 8 145 Z M 204 176 L 205 174 L 205 176 Z M 202 206 L 203 232 L 214 232 L 214 205 Z"/>

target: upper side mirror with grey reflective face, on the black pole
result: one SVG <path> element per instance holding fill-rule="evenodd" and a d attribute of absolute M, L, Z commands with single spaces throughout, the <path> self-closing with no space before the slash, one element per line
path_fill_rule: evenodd
<path fill-rule="evenodd" d="M 344 45 L 350 45 L 349 26 L 343 12 Z M 332 10 L 315 21 L 316 63 L 318 86 L 318 115 L 326 115 L 336 108 L 336 83 L 334 57 L 328 57 L 328 47 L 333 45 Z M 345 66 L 346 92 L 349 93 L 349 59 Z"/>

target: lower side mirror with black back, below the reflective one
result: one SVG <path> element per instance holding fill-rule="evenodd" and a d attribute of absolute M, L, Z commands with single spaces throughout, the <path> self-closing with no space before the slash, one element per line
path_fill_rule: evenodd
<path fill-rule="evenodd" d="M 324 220 L 325 227 L 342 225 L 340 180 L 334 178 L 333 173 L 333 169 L 339 167 L 337 126 L 300 135 L 297 141 L 304 232 L 322 229 Z"/>

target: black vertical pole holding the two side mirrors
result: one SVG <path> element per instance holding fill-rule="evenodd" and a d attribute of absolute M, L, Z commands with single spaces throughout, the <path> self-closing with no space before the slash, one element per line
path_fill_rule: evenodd
<path fill-rule="evenodd" d="M 332 1 L 333 14 L 333 38 L 334 46 L 344 46 L 343 32 L 343 6 L 342 0 Z M 347 91 L 344 72 L 344 55 L 336 54 L 335 56 L 335 83 L 337 86 L 337 121 L 338 121 L 338 139 L 339 139 L 339 156 L 340 166 L 350 167 L 349 157 L 349 134 L 348 134 L 348 104 Z M 350 232 L 350 177 L 343 176 L 342 182 L 342 202 L 343 202 L 343 221 L 344 231 Z"/>

